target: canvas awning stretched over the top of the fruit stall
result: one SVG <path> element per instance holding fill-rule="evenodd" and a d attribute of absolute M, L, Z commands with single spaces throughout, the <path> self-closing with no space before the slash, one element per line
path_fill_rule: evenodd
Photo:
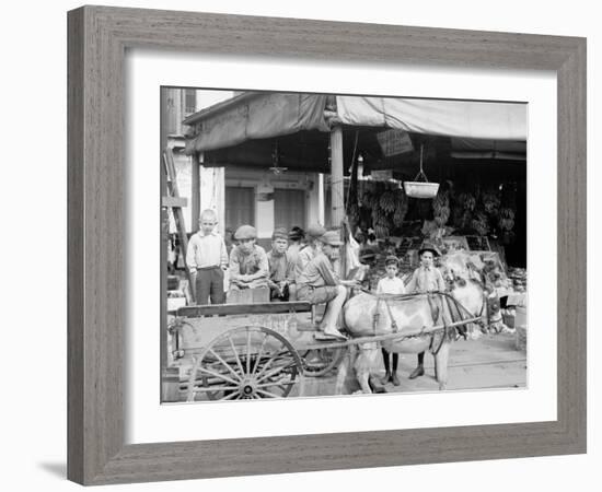
<path fill-rule="evenodd" d="M 410 133 L 445 136 L 498 150 L 498 141 L 526 140 L 526 104 L 400 97 L 243 93 L 188 117 L 186 152 L 233 148 L 245 142 L 306 130 L 327 132 L 332 122 L 347 127 L 394 128 Z M 491 142 L 484 149 L 484 142 Z M 470 147 L 470 145 L 468 145 Z M 467 150 L 467 149 L 466 149 Z"/>

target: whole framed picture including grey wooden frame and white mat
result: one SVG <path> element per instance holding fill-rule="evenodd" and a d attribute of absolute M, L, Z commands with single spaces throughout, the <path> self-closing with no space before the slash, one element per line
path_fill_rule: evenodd
<path fill-rule="evenodd" d="M 583 38 L 68 20 L 69 479 L 584 453 Z"/>

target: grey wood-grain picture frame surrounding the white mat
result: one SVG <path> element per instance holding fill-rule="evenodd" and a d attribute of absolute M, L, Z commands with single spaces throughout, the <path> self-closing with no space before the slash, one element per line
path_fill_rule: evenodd
<path fill-rule="evenodd" d="M 103 484 L 586 452 L 586 39 L 106 7 L 69 12 L 68 32 L 70 480 Z M 124 57 L 131 47 L 555 71 L 557 420 L 125 445 L 120 232 Z"/>

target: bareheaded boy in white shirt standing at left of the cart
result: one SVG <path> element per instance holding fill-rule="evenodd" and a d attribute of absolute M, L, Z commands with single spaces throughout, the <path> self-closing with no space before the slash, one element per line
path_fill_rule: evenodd
<path fill-rule="evenodd" d="M 199 231 L 190 237 L 186 250 L 186 266 L 194 273 L 197 304 L 223 304 L 223 271 L 228 268 L 228 253 L 223 238 L 216 231 L 216 212 L 204 210 Z"/>

